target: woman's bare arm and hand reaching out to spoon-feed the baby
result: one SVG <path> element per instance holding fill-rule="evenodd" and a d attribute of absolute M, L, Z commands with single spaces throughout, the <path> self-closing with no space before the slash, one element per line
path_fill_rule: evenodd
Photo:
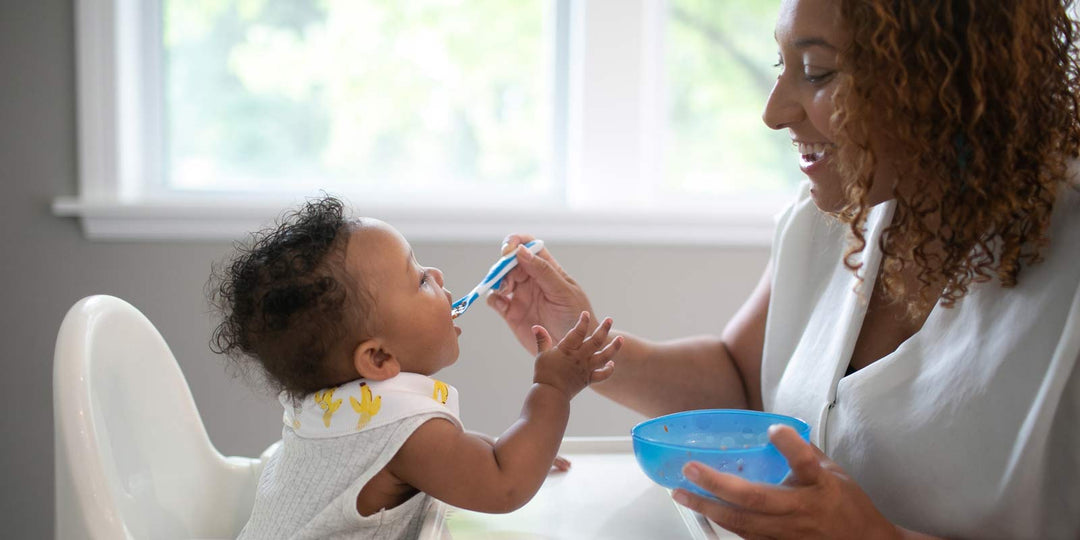
<path fill-rule="evenodd" d="M 503 253 L 532 240 L 508 237 Z M 488 297 L 518 340 L 529 346 L 532 324 L 565 328 L 581 310 L 591 311 L 584 291 L 546 251 L 517 249 L 518 267 L 502 289 Z M 769 309 L 771 270 L 724 329 L 723 337 L 697 336 L 653 342 L 630 334 L 619 352 L 619 369 L 593 388 L 648 416 L 707 407 L 761 408 L 761 350 Z"/>

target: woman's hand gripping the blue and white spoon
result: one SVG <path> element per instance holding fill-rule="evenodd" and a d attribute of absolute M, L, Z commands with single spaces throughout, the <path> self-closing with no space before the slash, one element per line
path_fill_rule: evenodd
<path fill-rule="evenodd" d="M 517 251 L 517 267 L 502 281 L 502 286 L 487 297 L 487 305 L 495 309 L 510 325 L 526 350 L 536 353 L 537 340 L 534 325 L 548 329 L 558 341 L 578 322 L 582 311 L 592 313 L 589 297 L 581 289 L 548 248 L 532 255 L 522 244 L 531 242 L 529 234 L 510 234 L 502 243 L 502 254 Z M 588 334 L 596 327 L 589 321 Z"/>

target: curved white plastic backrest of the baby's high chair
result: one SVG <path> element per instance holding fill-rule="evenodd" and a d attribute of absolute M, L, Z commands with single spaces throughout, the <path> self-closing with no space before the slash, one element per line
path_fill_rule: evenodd
<path fill-rule="evenodd" d="M 53 365 L 56 538 L 235 538 L 264 460 L 211 444 L 173 353 L 111 296 L 64 318 Z"/>

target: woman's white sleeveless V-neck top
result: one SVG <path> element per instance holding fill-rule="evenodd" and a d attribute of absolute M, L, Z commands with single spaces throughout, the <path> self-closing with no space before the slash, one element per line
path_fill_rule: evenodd
<path fill-rule="evenodd" d="M 863 291 L 894 201 L 867 219 Z M 811 441 L 893 523 L 961 538 L 1080 537 L 1080 193 L 1062 188 L 1044 260 L 972 285 L 891 354 L 845 377 L 866 311 L 848 226 L 804 185 L 779 219 L 761 359 L 766 410 Z"/>

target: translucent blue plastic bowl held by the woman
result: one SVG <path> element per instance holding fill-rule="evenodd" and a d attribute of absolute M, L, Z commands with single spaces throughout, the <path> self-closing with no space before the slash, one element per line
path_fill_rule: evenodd
<path fill-rule="evenodd" d="M 779 484 L 791 470 L 769 442 L 769 426 L 795 428 L 806 441 L 810 426 L 798 418 L 756 410 L 701 409 L 675 413 L 634 427 L 634 456 L 653 482 L 670 489 L 711 497 L 683 476 L 683 465 L 700 461 L 752 482 Z"/>

